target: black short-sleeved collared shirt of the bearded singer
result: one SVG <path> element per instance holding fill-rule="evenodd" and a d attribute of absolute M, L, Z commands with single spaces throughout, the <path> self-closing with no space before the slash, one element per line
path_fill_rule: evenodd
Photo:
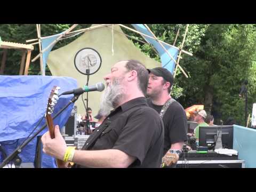
<path fill-rule="evenodd" d="M 105 130 L 93 143 L 101 129 Z M 140 97 L 111 111 L 105 121 L 90 135 L 83 149 L 118 149 L 136 157 L 129 167 L 159 167 L 163 145 L 162 120 L 154 109 L 148 107 L 146 98 Z"/>

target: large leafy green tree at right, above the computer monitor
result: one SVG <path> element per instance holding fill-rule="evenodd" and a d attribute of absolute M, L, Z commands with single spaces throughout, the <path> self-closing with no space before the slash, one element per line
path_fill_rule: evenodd
<path fill-rule="evenodd" d="M 201 44 L 193 50 L 194 57 L 181 61 L 189 71 L 191 81 L 179 76 L 183 87 L 183 105 L 203 103 L 207 112 L 219 118 L 234 117 L 244 122 L 244 101 L 238 97 L 244 79 L 255 82 L 254 25 L 210 25 Z M 255 86 L 249 86 L 249 111 Z"/>

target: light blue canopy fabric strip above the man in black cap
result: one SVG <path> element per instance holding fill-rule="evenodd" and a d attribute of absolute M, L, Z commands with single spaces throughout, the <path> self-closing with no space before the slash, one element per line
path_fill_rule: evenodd
<path fill-rule="evenodd" d="M 132 24 L 132 26 L 139 32 L 141 32 L 145 35 L 154 37 L 150 33 L 150 31 L 142 24 Z M 174 69 L 175 69 L 175 62 L 172 60 L 172 58 L 166 53 L 166 51 L 163 49 L 163 47 L 155 39 L 149 38 L 146 36 L 143 36 L 143 37 L 147 40 L 147 42 L 152 44 L 155 47 L 155 49 L 157 50 L 159 56 L 161 57 L 162 67 L 166 68 L 173 74 Z M 172 55 L 173 59 L 176 61 L 177 57 L 178 57 L 179 50 L 175 49 L 174 47 L 172 47 L 170 45 L 163 44 L 163 46 L 170 53 L 170 55 Z"/>

